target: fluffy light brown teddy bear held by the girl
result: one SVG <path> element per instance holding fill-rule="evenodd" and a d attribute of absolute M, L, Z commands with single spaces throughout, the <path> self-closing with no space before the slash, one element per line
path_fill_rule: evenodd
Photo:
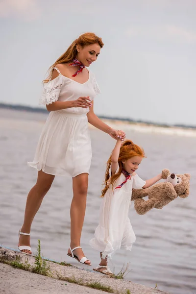
<path fill-rule="evenodd" d="M 162 171 L 164 183 L 155 184 L 146 189 L 132 189 L 131 200 L 135 201 L 135 210 L 139 215 L 144 215 L 152 208 L 161 209 L 172 200 L 186 198 L 190 191 L 190 174 L 174 174 L 168 169 Z M 148 200 L 142 199 L 148 196 Z"/>

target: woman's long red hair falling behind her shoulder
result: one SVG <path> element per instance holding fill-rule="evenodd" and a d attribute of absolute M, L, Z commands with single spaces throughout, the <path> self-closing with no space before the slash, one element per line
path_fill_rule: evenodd
<path fill-rule="evenodd" d="M 53 72 L 53 68 L 59 64 L 59 63 L 69 63 L 72 62 L 73 58 L 77 55 L 77 49 L 76 46 L 80 45 L 81 47 L 92 45 L 92 44 L 98 44 L 100 48 L 104 46 L 102 39 L 99 38 L 94 33 L 84 33 L 79 36 L 78 39 L 75 39 L 73 43 L 70 45 L 70 47 L 63 53 L 55 62 L 52 64 L 48 70 L 49 76 L 47 79 L 43 81 L 43 83 L 48 83 Z"/>

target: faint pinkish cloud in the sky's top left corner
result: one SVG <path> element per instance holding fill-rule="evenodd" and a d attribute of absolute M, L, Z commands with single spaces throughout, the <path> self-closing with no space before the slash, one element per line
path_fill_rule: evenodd
<path fill-rule="evenodd" d="M 40 16 L 37 0 L 1 0 L 0 17 L 19 17 L 26 21 L 33 21 Z"/>

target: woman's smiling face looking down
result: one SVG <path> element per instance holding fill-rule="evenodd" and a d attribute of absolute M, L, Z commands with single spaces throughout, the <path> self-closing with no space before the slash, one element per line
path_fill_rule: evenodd
<path fill-rule="evenodd" d="M 80 47 L 77 46 L 76 58 L 86 67 L 89 67 L 92 62 L 96 61 L 100 53 L 100 46 L 95 43 L 92 45 Z"/>

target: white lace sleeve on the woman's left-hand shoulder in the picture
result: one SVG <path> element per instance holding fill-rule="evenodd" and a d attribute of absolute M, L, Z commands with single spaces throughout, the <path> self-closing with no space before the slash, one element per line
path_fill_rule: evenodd
<path fill-rule="evenodd" d="M 44 84 L 39 104 L 49 105 L 58 100 L 62 87 L 62 76 L 59 74 L 56 78 Z"/>

